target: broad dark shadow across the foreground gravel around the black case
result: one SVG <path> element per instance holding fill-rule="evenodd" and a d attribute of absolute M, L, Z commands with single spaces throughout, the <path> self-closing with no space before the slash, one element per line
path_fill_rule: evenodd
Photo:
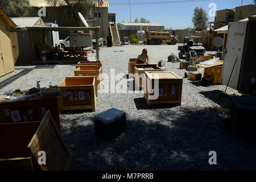
<path fill-rule="evenodd" d="M 75 119 L 61 129 L 71 153 L 72 170 L 255 170 L 256 145 L 226 130 L 213 111 L 162 110 L 127 120 L 126 133 L 105 142 Z M 210 118 L 210 119 L 209 119 Z M 209 151 L 218 165 L 210 166 Z"/>

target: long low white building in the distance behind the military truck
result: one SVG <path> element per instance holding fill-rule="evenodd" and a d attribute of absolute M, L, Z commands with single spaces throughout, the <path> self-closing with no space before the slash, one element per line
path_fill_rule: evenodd
<path fill-rule="evenodd" d="M 121 30 L 143 30 L 144 27 L 148 27 L 148 30 L 160 29 L 164 30 L 164 26 L 156 23 L 118 23 L 118 29 Z"/>

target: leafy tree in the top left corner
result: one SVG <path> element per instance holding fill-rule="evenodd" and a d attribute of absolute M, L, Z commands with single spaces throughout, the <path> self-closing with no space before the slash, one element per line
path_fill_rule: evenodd
<path fill-rule="evenodd" d="M 28 0 L 1 1 L 2 9 L 10 17 L 22 17 L 30 14 L 30 2 Z"/>

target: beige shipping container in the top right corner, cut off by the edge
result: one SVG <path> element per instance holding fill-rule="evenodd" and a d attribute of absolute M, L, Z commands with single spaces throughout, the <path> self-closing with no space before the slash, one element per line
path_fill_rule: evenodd
<path fill-rule="evenodd" d="M 234 16 L 234 21 L 248 18 L 248 16 L 256 15 L 256 5 L 246 5 L 236 7 L 236 14 Z"/>

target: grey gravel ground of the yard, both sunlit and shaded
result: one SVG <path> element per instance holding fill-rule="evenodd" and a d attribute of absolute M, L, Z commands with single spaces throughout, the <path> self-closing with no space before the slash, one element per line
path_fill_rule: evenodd
<path fill-rule="evenodd" d="M 125 78 L 127 60 L 137 57 L 143 48 L 148 49 L 152 64 L 167 61 L 170 53 L 177 55 L 177 45 L 102 47 L 103 72 L 110 75 L 114 68 L 116 75 L 122 73 Z M 166 63 L 166 68 L 184 76 L 179 63 Z M 74 69 L 74 65 L 16 67 L 15 75 L 0 78 L 0 94 L 13 88 L 34 87 L 38 80 L 41 86 L 48 86 L 49 82 L 58 85 L 65 76 L 72 76 Z M 132 79 L 123 81 L 133 84 Z M 128 94 L 128 89 L 127 93 L 99 93 L 96 113 L 70 111 L 61 115 L 61 135 L 72 156 L 71 169 L 255 170 L 256 144 L 226 129 L 225 114 L 199 108 L 213 107 L 210 101 L 228 108 L 230 95 L 223 90 L 225 85 L 203 87 L 184 78 L 181 106 L 151 109 L 142 93 Z M 237 92 L 228 88 L 228 93 Z M 188 110 L 186 106 L 198 108 Z M 112 107 L 126 112 L 127 131 L 105 142 L 94 136 L 93 116 Z M 217 165 L 209 165 L 209 151 L 217 152 Z"/>

